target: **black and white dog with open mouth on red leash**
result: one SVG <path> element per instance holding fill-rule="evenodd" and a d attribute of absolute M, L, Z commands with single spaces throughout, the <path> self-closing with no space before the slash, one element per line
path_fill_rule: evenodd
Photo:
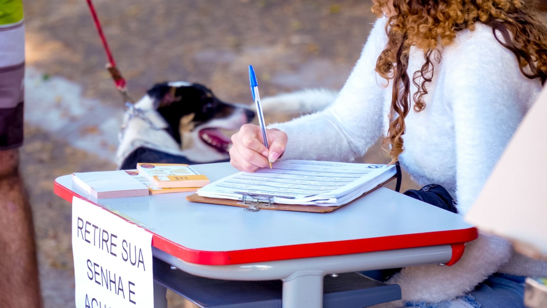
<path fill-rule="evenodd" d="M 125 113 L 118 167 L 227 161 L 231 141 L 222 130 L 238 130 L 253 118 L 247 106 L 224 102 L 201 84 L 156 84 Z"/>

